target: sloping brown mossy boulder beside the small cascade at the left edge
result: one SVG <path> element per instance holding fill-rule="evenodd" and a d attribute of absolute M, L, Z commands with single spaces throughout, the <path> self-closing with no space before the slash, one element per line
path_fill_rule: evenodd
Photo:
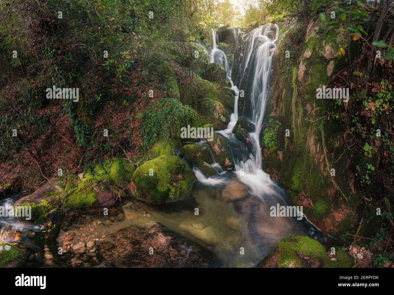
<path fill-rule="evenodd" d="M 47 181 L 45 185 L 37 189 L 33 194 L 26 195 L 14 203 L 15 207 L 31 206 L 31 219 L 35 224 L 43 224 L 54 214 L 62 204 L 62 199 L 65 196 L 61 190 L 60 183 L 56 180 Z M 26 216 L 18 216 L 18 220 L 26 220 Z"/>

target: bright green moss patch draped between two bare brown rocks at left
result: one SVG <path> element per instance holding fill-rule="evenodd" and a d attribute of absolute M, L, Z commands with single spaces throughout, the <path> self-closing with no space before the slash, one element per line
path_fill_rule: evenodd
<path fill-rule="evenodd" d="M 87 173 L 78 187 L 67 196 L 64 203 L 66 209 L 90 207 L 97 201 L 93 187 L 99 183 L 100 177 Z"/>

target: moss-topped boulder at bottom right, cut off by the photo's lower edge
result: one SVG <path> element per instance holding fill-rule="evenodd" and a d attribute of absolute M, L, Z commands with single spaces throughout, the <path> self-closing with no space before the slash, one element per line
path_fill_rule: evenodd
<path fill-rule="evenodd" d="M 318 241 L 292 236 L 284 238 L 258 267 L 351 267 L 353 262 L 346 251 L 337 251 L 329 257 Z"/>

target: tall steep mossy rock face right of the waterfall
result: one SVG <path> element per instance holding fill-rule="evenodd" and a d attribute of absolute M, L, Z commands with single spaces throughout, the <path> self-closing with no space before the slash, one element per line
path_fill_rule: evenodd
<path fill-rule="evenodd" d="M 281 28 L 272 59 L 270 102 L 261 138 L 264 169 L 276 175 L 292 205 L 302 205 L 304 214 L 317 227 L 341 243 L 351 243 L 353 238 L 346 232 L 356 232 L 362 214 L 353 183 L 356 166 L 364 166 L 358 161 L 365 157 L 363 151 L 357 156 L 356 151 L 349 151 L 341 119 L 330 116 L 324 119 L 325 124 L 319 120 L 336 110 L 336 102 L 316 99 L 316 89 L 322 85 L 335 87 L 330 86 L 330 80 L 346 65 L 346 56 L 339 55 L 317 34 L 320 26 L 322 22 L 317 19 L 307 28 L 290 22 Z M 284 54 L 288 49 L 284 40 L 289 38 L 295 42 L 296 54 L 291 56 L 293 66 L 286 68 Z M 330 38 L 338 38 L 338 44 L 346 48 L 340 26 L 330 31 Z M 341 155 L 341 160 L 331 162 L 329 159 L 336 155 Z M 374 161 L 376 167 L 379 160 Z M 335 169 L 335 177 L 331 177 L 331 169 Z M 372 233 L 377 221 L 372 211 L 366 209 L 370 223 L 361 228 L 361 236 L 370 237 Z"/>

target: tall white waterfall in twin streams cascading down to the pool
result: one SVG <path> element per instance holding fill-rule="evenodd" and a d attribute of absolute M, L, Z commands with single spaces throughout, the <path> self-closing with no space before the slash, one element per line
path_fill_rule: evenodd
<path fill-rule="evenodd" d="M 232 30 L 234 39 L 238 42 L 239 30 Z M 211 62 L 217 62 L 227 70 L 228 79 L 231 82 L 232 89 L 236 92 L 234 112 L 230 115 L 230 122 L 227 129 L 218 131 L 229 140 L 230 149 L 235 164 L 235 173 L 242 181 L 251 189 L 251 192 L 263 198 L 263 195 L 276 196 L 284 200 L 284 192 L 279 188 L 278 184 L 271 180 L 269 174 L 262 170 L 262 151 L 260 147 L 259 135 L 264 122 L 264 114 L 269 94 L 269 74 L 271 72 L 271 60 L 275 51 L 279 35 L 279 27 L 274 24 L 266 24 L 260 26 L 245 36 L 243 43 L 243 59 L 239 65 L 238 76 L 236 77 L 236 85 L 231 80 L 231 71 L 228 71 L 227 58 L 223 51 L 217 49 L 219 42 L 216 31 L 212 31 L 212 52 Z M 221 53 L 219 53 L 221 52 Z M 236 50 L 234 50 L 234 53 Z M 223 54 L 222 54 L 223 53 Z M 221 56 L 224 56 L 222 58 Z M 234 65 L 233 65 L 234 66 Z M 238 119 L 238 87 L 241 85 L 245 73 L 248 72 L 248 79 L 252 79 L 252 87 L 250 92 L 251 105 L 251 123 L 255 125 L 255 130 L 249 133 L 253 139 L 253 147 L 249 155 L 239 155 L 245 149 L 239 148 L 239 142 L 232 134 L 232 129 Z M 248 98 L 245 98 L 248 99 Z M 238 143 L 236 143 L 238 142 Z M 232 148 L 235 147 L 235 148 Z M 245 153 L 245 152 L 243 152 Z"/>

